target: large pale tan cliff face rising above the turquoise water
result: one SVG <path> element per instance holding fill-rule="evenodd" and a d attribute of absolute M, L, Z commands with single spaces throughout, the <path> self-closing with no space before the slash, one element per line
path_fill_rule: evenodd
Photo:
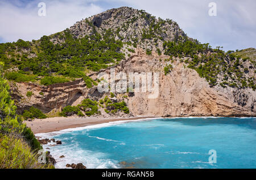
<path fill-rule="evenodd" d="M 165 55 L 150 56 L 138 50 L 137 55 L 115 67 L 122 72 L 159 72 L 159 96 L 148 98 L 149 93 L 134 93 L 128 105 L 133 115 L 155 117 L 177 116 L 255 116 L 256 92 L 252 89 L 210 88 L 195 70 L 185 68 L 176 59 L 170 74 L 163 68 L 170 62 L 159 61 Z M 107 70 L 106 72 L 109 72 Z"/>

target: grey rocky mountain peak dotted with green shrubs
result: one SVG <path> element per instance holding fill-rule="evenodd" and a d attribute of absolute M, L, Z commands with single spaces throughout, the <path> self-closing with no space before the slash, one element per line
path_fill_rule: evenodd
<path fill-rule="evenodd" d="M 131 7 L 112 8 L 74 24 L 70 31 L 75 38 L 107 31 L 115 40 L 138 44 L 143 49 L 163 49 L 164 41 L 184 41 L 188 37 L 173 20 L 161 18 Z"/>

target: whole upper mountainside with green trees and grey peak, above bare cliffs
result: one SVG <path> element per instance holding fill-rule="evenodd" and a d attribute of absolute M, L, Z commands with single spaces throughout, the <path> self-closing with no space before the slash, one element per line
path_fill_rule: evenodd
<path fill-rule="evenodd" d="M 112 18 L 100 18 L 110 13 Z M 15 82 L 50 85 L 84 78 L 91 88 L 97 83 L 86 76 L 88 72 L 118 64 L 125 55 L 135 53 L 134 48 L 142 48 L 147 55 L 154 50 L 158 55 L 170 55 L 170 61 L 186 63 L 211 87 L 256 88 L 246 66 L 249 63 L 255 69 L 253 55 L 213 49 L 189 38 L 176 22 L 129 7 L 102 12 L 40 40 L 0 44 L 0 59 L 5 62 L 6 79 Z M 170 70 L 166 67 L 164 73 Z"/>

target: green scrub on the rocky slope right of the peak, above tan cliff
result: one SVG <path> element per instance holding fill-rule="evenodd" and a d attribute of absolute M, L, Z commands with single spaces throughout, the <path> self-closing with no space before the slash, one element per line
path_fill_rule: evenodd
<path fill-rule="evenodd" d="M 230 52 L 225 53 L 217 49 L 210 48 L 209 44 L 200 44 L 197 41 L 187 40 L 185 42 L 164 42 L 164 54 L 180 58 L 188 64 L 188 68 L 195 69 L 199 75 L 205 78 L 210 86 L 217 84 L 222 87 L 227 85 L 236 88 L 256 89 L 255 79 L 246 78 L 246 68 L 243 68 L 245 58 L 236 56 Z M 168 68 L 164 68 L 167 74 Z"/>

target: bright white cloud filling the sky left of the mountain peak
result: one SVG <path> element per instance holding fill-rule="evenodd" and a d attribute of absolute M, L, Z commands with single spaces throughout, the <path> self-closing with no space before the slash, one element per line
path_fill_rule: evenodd
<path fill-rule="evenodd" d="M 39 1 L 40 2 L 40 1 Z M 0 37 L 2 41 L 38 39 L 43 35 L 63 31 L 77 21 L 98 14 L 102 8 L 94 1 L 43 1 L 46 3 L 46 16 L 38 16 L 38 3 L 15 6 L 0 2 Z M 17 4 L 16 4 L 17 5 Z"/>

